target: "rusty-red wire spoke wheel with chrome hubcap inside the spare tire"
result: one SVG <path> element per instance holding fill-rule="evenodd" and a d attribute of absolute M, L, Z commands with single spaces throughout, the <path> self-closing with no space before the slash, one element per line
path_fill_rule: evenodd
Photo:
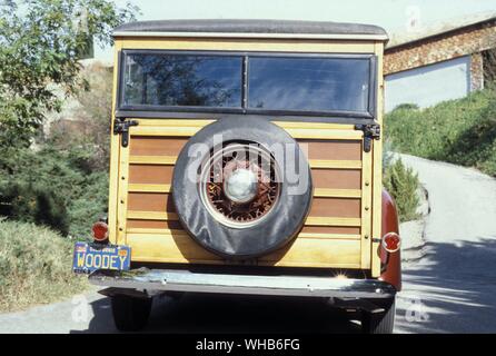
<path fill-rule="evenodd" d="M 261 145 L 228 144 L 204 161 L 199 189 L 204 205 L 219 222 L 248 228 L 277 204 L 279 168 Z"/>

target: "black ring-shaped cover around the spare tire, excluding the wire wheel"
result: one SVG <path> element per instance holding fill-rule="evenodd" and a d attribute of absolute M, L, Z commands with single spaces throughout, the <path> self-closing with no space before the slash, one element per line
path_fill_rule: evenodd
<path fill-rule="evenodd" d="M 204 156 L 209 155 L 214 145 L 218 145 L 218 141 L 214 139 L 215 135 L 221 135 L 224 142 L 252 141 L 269 148 L 275 144 L 290 144 L 292 157 L 296 158 L 296 161 L 299 159 L 300 162 L 298 169 L 307 175 L 307 184 L 301 185 L 304 188 L 299 194 L 288 194 L 290 187 L 295 189 L 299 185 L 299 177 L 302 175 L 292 175 L 288 179 L 285 171 L 278 201 L 257 225 L 247 228 L 232 228 L 219 222 L 204 206 L 198 181 L 188 179 L 187 174 L 188 169 L 192 169 L 190 171 L 195 172 L 199 171 L 205 158 L 199 159 L 195 155 L 189 157 L 191 156 L 188 155 L 190 149 L 195 149 L 194 145 L 204 144 L 204 147 L 208 146 L 208 151 Z M 285 154 L 284 159 L 286 160 L 289 156 Z M 279 167 L 284 167 L 281 165 L 284 162 L 279 162 L 277 159 L 276 162 Z M 269 122 L 268 119 L 259 117 L 229 117 L 206 126 L 185 145 L 173 170 L 172 199 L 181 225 L 201 246 L 225 258 L 254 258 L 289 243 L 301 229 L 309 211 L 311 197 L 311 174 L 305 154 L 284 129 Z"/>

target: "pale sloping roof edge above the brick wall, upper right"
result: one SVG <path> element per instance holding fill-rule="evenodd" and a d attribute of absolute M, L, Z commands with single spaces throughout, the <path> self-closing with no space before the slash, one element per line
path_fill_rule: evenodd
<path fill-rule="evenodd" d="M 400 47 L 407 43 L 426 40 L 428 38 L 456 31 L 466 27 L 496 20 L 496 12 L 482 12 L 462 18 L 450 19 L 449 21 L 438 22 L 434 26 L 420 28 L 418 31 L 394 32 L 390 36 L 387 49 Z"/>

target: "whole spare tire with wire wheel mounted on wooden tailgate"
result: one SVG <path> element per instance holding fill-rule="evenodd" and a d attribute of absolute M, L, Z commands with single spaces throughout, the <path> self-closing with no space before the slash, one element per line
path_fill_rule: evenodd
<path fill-rule="evenodd" d="M 301 229 L 313 196 L 298 144 L 265 118 L 219 119 L 178 156 L 172 199 L 179 221 L 206 249 L 231 259 L 266 255 Z"/>

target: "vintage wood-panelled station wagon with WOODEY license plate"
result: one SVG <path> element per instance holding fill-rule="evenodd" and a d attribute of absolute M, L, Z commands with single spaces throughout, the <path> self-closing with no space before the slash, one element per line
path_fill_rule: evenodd
<path fill-rule="evenodd" d="M 326 298 L 390 333 L 400 238 L 367 24 L 135 22 L 115 33 L 108 219 L 75 270 L 116 325 L 185 291 Z M 314 297 L 314 298 L 311 298 Z"/>

